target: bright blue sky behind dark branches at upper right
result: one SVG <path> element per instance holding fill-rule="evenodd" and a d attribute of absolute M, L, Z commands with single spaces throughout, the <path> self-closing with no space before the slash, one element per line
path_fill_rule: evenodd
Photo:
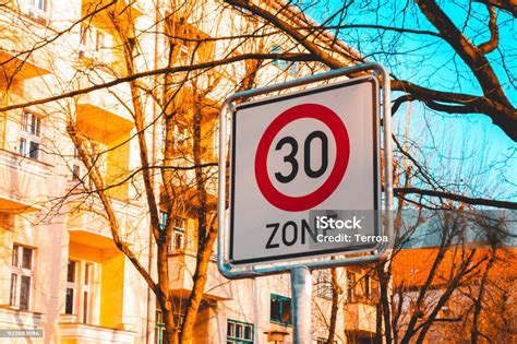
<path fill-rule="evenodd" d="M 374 2 L 377 11 L 368 9 L 365 1 L 352 3 L 345 24 L 382 24 L 436 32 L 412 1 Z M 442 1 L 445 13 L 474 44 L 490 37 L 488 11 L 483 4 L 469 1 Z M 342 1 L 304 1 L 306 13 L 318 22 L 326 21 Z M 308 8 L 309 5 L 309 8 Z M 467 17 L 469 20 L 467 21 Z M 337 22 L 337 19 L 334 23 Z M 342 22 L 341 22 L 342 24 Z M 506 95 L 517 103 L 515 75 L 503 68 L 517 70 L 516 21 L 500 11 L 498 49 L 488 55 Z M 380 33 L 383 35 L 380 39 Z M 397 78 L 435 90 L 481 94 L 481 88 L 461 59 L 438 38 L 428 35 L 398 36 L 377 29 L 340 29 L 337 35 L 351 47 L 388 67 Z M 395 54 L 382 54 L 392 50 Z M 394 94 L 396 96 L 396 94 Z M 426 161 L 433 175 L 449 191 L 472 197 L 486 197 L 517 201 L 517 144 L 491 119 L 482 115 L 436 114 L 420 103 L 411 106 L 409 137 L 421 147 L 417 156 Z M 394 117 L 394 131 L 404 135 L 407 111 L 401 108 Z"/>

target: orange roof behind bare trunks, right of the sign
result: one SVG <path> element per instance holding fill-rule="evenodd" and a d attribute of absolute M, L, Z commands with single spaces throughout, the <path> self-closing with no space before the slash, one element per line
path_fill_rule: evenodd
<path fill-rule="evenodd" d="M 395 288 L 414 288 L 425 284 L 431 269 L 438 254 L 437 248 L 402 249 L 394 254 L 392 263 L 392 275 Z M 436 266 L 431 286 L 436 288 L 447 283 L 452 276 L 456 275 L 461 262 L 469 260 L 469 269 L 460 283 L 480 278 L 486 263 L 491 257 L 488 248 L 478 248 L 469 259 L 473 249 L 446 249 L 445 256 Z M 489 271 L 489 276 L 501 278 L 517 276 L 517 249 L 497 249 L 496 261 Z"/>

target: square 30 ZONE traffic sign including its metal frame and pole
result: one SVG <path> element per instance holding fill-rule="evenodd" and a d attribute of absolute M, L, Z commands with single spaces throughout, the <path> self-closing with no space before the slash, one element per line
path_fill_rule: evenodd
<path fill-rule="evenodd" d="M 249 100 L 352 74 L 361 76 Z M 237 100 L 241 102 L 236 105 Z M 244 91 L 221 107 L 219 271 L 227 278 L 289 271 L 294 343 L 311 335 L 311 270 L 364 264 L 387 256 L 393 227 L 390 118 L 389 74 L 377 63 Z"/>

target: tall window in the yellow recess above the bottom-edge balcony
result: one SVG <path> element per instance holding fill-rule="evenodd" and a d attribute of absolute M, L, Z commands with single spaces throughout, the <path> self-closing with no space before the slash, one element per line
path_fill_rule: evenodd
<path fill-rule="evenodd" d="M 94 265 L 89 262 L 69 260 L 67 270 L 65 315 L 81 315 L 83 323 L 91 321 L 91 285 Z"/>

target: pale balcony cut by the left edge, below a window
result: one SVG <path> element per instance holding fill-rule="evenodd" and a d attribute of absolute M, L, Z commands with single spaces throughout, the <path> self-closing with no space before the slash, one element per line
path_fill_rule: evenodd
<path fill-rule="evenodd" d="M 0 211 L 32 212 L 49 194 L 52 166 L 0 149 Z"/>

